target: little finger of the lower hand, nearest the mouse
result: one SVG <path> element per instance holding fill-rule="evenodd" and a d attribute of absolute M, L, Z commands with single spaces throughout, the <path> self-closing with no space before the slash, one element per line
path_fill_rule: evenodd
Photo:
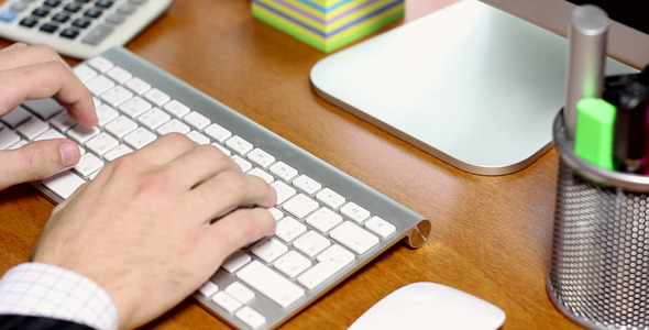
<path fill-rule="evenodd" d="M 264 208 L 240 209 L 211 224 L 208 233 L 217 252 L 230 255 L 234 251 L 275 233 L 277 221 Z"/>

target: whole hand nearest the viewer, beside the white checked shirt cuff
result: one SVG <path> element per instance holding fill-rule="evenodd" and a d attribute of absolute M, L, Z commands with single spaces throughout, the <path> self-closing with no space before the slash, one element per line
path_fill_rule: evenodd
<path fill-rule="evenodd" d="M 273 234 L 265 208 L 276 198 L 218 148 L 165 135 L 58 205 L 33 260 L 97 282 L 120 328 L 131 329 L 195 292 L 232 252 Z"/>

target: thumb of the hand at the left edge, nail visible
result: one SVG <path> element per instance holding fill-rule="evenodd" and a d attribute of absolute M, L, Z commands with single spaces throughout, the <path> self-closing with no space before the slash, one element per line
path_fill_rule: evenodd
<path fill-rule="evenodd" d="M 66 139 L 36 141 L 16 150 L 0 151 L 0 190 L 68 169 L 79 157 L 79 146 Z"/>

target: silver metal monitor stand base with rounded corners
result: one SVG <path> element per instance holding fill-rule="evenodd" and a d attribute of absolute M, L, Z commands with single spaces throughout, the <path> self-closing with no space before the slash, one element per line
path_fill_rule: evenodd
<path fill-rule="evenodd" d="M 464 0 L 330 55 L 326 100 L 468 172 L 519 170 L 547 152 L 565 103 L 565 37 Z M 607 74 L 636 69 L 608 58 Z"/>

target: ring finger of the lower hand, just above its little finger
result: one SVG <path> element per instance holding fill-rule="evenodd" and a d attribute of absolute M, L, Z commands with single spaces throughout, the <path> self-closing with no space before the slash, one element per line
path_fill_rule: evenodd
<path fill-rule="evenodd" d="M 195 187 L 187 195 L 194 202 L 196 219 L 216 219 L 242 206 L 272 207 L 275 189 L 263 179 L 235 170 L 224 170 Z"/>

